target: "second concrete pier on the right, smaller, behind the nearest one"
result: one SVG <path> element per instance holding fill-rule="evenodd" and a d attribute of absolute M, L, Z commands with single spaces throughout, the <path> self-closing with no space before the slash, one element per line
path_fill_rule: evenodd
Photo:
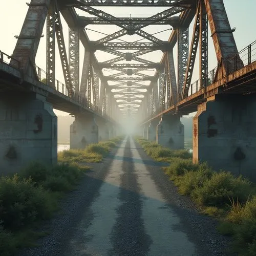
<path fill-rule="evenodd" d="M 180 115 L 162 115 L 157 125 L 157 144 L 173 150 L 184 149 L 184 125 Z"/>

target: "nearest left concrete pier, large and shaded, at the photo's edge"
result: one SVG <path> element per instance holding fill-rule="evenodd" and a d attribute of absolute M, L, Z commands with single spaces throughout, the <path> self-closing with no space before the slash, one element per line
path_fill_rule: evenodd
<path fill-rule="evenodd" d="M 57 117 L 46 97 L 0 96 L 0 173 L 16 173 L 31 161 L 57 164 Z"/>

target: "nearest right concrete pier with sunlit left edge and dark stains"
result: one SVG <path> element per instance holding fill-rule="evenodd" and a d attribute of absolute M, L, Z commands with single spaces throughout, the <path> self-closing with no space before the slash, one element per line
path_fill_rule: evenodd
<path fill-rule="evenodd" d="M 256 181 L 256 97 L 217 95 L 193 119 L 193 162 Z"/>

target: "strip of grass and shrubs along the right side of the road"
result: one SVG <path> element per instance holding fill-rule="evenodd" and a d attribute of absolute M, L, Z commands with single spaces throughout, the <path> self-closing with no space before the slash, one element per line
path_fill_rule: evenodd
<path fill-rule="evenodd" d="M 240 256 L 256 255 L 256 190 L 246 178 L 215 172 L 207 163 L 194 164 L 191 154 L 174 151 L 136 138 L 156 161 L 169 162 L 163 170 L 182 195 L 200 205 L 202 214 L 218 218 L 221 234 L 232 236 L 232 250 Z"/>

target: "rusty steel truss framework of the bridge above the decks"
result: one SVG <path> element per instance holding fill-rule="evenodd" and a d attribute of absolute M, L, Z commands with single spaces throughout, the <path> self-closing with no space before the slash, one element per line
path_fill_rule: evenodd
<path fill-rule="evenodd" d="M 12 55 L 19 61 L 19 68 L 24 74 L 41 79 L 35 66 L 35 56 L 46 23 L 46 84 L 55 89 L 57 87 L 55 59 L 58 47 L 67 94 L 71 98 L 83 98 L 103 115 L 139 113 L 145 118 L 187 98 L 191 94 L 197 54 L 199 81 L 196 90 L 234 70 L 234 59 L 231 57 L 238 50 L 223 0 L 31 0 L 28 5 L 28 13 Z M 146 7 L 164 7 L 165 10 L 155 8 L 157 13 L 150 17 L 118 17 L 100 10 L 104 7 L 111 7 L 111 10 L 114 7 L 137 7 L 141 12 Z M 193 19 L 194 29 L 189 33 Z M 63 22 L 69 27 L 68 41 L 65 41 Z M 99 26 L 101 34 L 103 25 L 115 25 L 119 30 L 113 33 L 108 31 L 103 37 L 93 40 L 88 34 L 92 25 Z M 162 40 L 154 33 L 146 32 L 152 32 L 148 29 L 152 25 L 168 26 L 171 31 L 168 39 Z M 218 62 L 217 69 L 210 76 L 209 33 Z M 82 67 L 79 67 L 80 44 L 84 48 Z M 175 46 L 177 61 L 174 57 Z M 162 55 L 159 61 L 146 57 L 152 52 L 158 56 L 159 51 Z M 100 61 L 96 57 L 99 55 L 97 52 L 115 57 Z M 235 66 L 242 67 L 243 62 L 236 59 Z M 148 70 L 150 75 L 147 75 Z"/>

